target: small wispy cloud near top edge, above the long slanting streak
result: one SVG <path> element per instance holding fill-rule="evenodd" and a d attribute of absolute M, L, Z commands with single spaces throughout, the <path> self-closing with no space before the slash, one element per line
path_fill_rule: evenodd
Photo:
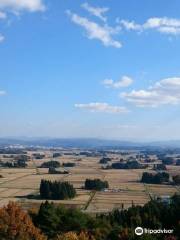
<path fill-rule="evenodd" d="M 103 14 L 106 13 L 109 10 L 109 8 L 92 7 L 88 3 L 83 3 L 81 7 L 87 10 L 92 15 L 98 17 L 102 21 L 106 22 L 107 18 L 104 17 Z"/>

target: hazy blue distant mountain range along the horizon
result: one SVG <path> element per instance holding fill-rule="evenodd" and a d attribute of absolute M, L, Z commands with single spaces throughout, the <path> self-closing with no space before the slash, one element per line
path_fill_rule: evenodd
<path fill-rule="evenodd" d="M 169 147 L 180 148 L 180 140 L 135 142 L 120 140 L 105 140 L 96 138 L 0 138 L 0 146 L 23 145 L 44 147 L 66 147 L 66 148 L 142 148 L 142 147 Z"/>

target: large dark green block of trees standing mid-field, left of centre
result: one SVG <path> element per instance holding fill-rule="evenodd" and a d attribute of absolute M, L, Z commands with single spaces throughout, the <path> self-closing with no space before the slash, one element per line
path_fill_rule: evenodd
<path fill-rule="evenodd" d="M 76 190 L 68 182 L 41 180 L 40 197 L 42 199 L 63 200 L 75 196 Z"/>

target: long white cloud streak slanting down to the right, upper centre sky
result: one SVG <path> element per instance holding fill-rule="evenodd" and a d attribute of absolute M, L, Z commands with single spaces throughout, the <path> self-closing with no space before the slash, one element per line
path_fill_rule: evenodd
<path fill-rule="evenodd" d="M 116 41 L 112 38 L 114 34 L 118 32 L 117 29 L 109 27 L 107 25 L 101 26 L 95 22 L 88 20 L 85 17 L 81 17 L 75 13 L 67 11 L 67 14 L 70 16 L 72 22 L 83 27 L 86 30 L 87 37 L 89 39 L 98 39 L 104 46 L 112 46 L 115 48 L 120 48 L 122 44 L 119 41 Z"/>

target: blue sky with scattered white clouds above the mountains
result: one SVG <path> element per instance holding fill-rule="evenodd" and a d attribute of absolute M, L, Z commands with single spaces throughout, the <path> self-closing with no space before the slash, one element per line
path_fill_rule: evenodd
<path fill-rule="evenodd" d="M 0 0 L 0 137 L 180 139 L 179 0 Z"/>

